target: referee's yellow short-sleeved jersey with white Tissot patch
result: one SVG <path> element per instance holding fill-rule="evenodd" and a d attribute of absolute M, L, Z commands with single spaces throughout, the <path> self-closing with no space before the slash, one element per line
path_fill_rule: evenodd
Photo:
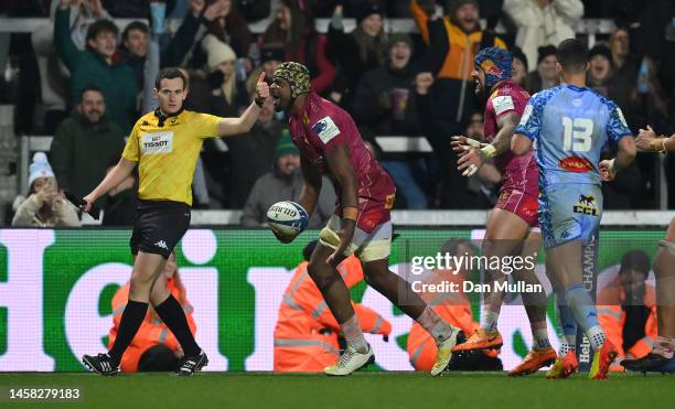
<path fill-rule="evenodd" d="M 133 126 L 122 157 L 138 163 L 138 197 L 192 206 L 194 166 L 206 138 L 218 132 L 219 117 L 183 110 L 159 127 L 154 112 Z"/>

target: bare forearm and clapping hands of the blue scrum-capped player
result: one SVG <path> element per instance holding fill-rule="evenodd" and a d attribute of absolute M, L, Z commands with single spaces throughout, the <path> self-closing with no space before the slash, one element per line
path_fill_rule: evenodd
<path fill-rule="evenodd" d="M 511 148 L 511 139 L 513 137 L 513 131 L 515 127 L 518 125 L 521 120 L 521 116 L 511 112 L 506 114 L 503 117 L 497 119 L 499 131 L 494 137 L 492 143 L 485 144 L 480 149 L 469 144 L 471 141 L 465 141 L 468 144 L 465 146 L 457 146 L 459 149 L 463 150 L 465 154 L 461 155 L 458 161 L 457 169 L 460 171 L 464 171 L 462 175 L 471 176 L 483 165 L 486 159 L 491 159 L 494 157 L 499 157 L 500 154 L 506 152 Z M 465 138 L 467 140 L 469 138 Z M 456 140 L 456 142 L 461 141 L 461 139 Z"/>

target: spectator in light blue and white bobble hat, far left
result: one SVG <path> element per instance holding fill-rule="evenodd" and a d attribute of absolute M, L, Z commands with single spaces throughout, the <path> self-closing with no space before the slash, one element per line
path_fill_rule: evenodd
<path fill-rule="evenodd" d="M 29 169 L 29 196 L 18 196 L 13 208 L 15 227 L 79 227 L 77 211 L 63 196 L 43 152 L 33 155 Z"/>

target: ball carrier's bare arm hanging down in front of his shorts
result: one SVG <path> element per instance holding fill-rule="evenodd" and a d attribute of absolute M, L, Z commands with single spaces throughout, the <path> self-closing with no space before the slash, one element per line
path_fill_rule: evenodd
<path fill-rule="evenodd" d="M 326 262 L 330 263 L 346 250 L 352 237 L 354 237 L 354 229 L 358 219 L 358 185 L 346 146 L 341 144 L 333 148 L 326 154 L 326 162 L 331 174 L 340 184 L 340 196 L 342 197 L 342 228 L 338 232 L 340 246 L 326 259 Z"/>

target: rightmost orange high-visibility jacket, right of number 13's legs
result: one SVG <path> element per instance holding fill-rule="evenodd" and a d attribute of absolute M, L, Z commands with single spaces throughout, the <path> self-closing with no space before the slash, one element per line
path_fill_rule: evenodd
<path fill-rule="evenodd" d="M 621 284 L 621 278 L 617 277 L 614 281 L 604 287 L 598 293 L 598 317 L 600 325 L 604 331 L 604 335 L 617 347 L 620 356 L 632 354 L 636 358 L 641 358 L 649 354 L 656 341 L 656 295 L 654 288 L 645 284 L 644 306 L 650 310 L 650 315 L 644 324 L 644 337 L 638 341 L 628 351 L 623 349 L 623 325 L 625 324 L 625 312 L 621 305 L 625 301 L 625 291 Z M 621 368 L 622 370 L 622 368 Z"/>

